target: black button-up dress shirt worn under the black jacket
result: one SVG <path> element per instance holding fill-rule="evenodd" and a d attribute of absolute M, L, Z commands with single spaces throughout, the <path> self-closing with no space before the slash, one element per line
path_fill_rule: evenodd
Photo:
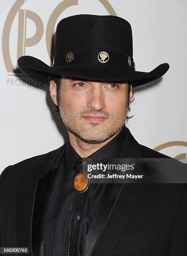
<path fill-rule="evenodd" d="M 125 140 L 125 124 L 120 133 L 88 158 L 118 158 Z M 75 176 L 81 171 L 82 158 L 70 145 L 67 137 L 63 155 L 52 185 L 47 207 L 44 247 L 47 256 L 63 256 L 72 206 L 77 195 L 73 187 Z M 91 183 L 78 202 L 71 230 L 70 256 L 80 256 L 85 237 L 101 201 L 106 183 Z"/>

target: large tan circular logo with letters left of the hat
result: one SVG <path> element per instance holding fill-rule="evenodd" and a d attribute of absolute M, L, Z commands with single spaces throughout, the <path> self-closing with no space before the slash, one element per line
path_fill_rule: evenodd
<path fill-rule="evenodd" d="M 108 11 L 110 15 L 116 15 L 115 10 L 112 8 L 110 3 L 107 0 L 98 0 Z M 42 36 L 44 36 L 44 25 L 42 22 L 42 19 L 40 16 L 33 12 L 32 10 L 25 10 L 21 9 L 22 5 L 25 3 L 25 0 L 16 0 L 12 8 L 10 9 L 7 18 L 5 20 L 3 32 L 2 32 L 2 54 L 3 59 L 5 63 L 5 67 L 7 69 L 8 75 L 16 75 L 16 76 L 23 76 L 20 70 L 16 67 L 14 69 L 15 63 L 12 61 L 11 51 L 10 51 L 10 31 L 12 28 L 12 24 L 15 20 L 15 16 L 18 14 L 18 23 L 17 23 L 17 59 L 20 56 L 25 55 L 25 49 L 27 47 L 32 47 L 37 45 Z M 45 3 L 45 2 L 44 2 Z M 46 24 L 46 31 L 45 31 L 45 41 L 46 41 L 46 49 L 47 53 L 50 56 L 50 59 L 52 61 L 54 56 L 54 42 L 52 40 L 53 38 L 53 32 L 55 28 L 55 23 L 60 16 L 60 14 L 65 11 L 67 8 L 78 5 L 78 0 L 64 0 L 61 3 L 59 3 L 55 9 L 52 11 L 48 22 Z M 27 38 L 27 20 L 30 19 L 34 22 L 36 26 L 35 34 Z M 16 50 L 16 49 L 15 49 Z M 17 64 L 16 64 L 17 65 Z M 9 82 L 10 85 L 13 85 L 14 79 L 8 79 L 7 82 Z M 17 85 L 19 82 L 17 82 Z"/>

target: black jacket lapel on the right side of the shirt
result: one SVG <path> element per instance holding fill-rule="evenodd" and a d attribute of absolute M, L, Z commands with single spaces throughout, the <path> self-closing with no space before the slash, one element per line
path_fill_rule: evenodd
<path fill-rule="evenodd" d="M 127 136 L 119 158 L 142 158 L 139 143 L 129 129 L 125 129 Z M 87 233 L 81 256 L 105 256 L 110 253 L 148 187 L 149 184 L 107 184 L 100 207 Z M 125 212 L 124 202 L 127 209 Z"/>

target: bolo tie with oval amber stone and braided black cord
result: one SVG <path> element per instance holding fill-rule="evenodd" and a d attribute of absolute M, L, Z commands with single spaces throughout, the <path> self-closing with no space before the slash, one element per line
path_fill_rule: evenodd
<path fill-rule="evenodd" d="M 76 169 L 76 168 L 75 168 Z M 78 172 L 75 176 L 73 187 L 77 192 L 75 200 L 73 202 L 71 215 L 70 215 L 70 222 L 67 231 L 66 243 L 65 243 L 65 256 L 69 256 L 70 253 L 70 239 L 71 239 L 71 230 L 72 230 L 72 223 L 75 211 L 77 209 L 78 202 L 80 200 L 81 194 L 84 193 L 89 186 L 89 179 L 87 177 L 87 173 L 85 172 Z"/>

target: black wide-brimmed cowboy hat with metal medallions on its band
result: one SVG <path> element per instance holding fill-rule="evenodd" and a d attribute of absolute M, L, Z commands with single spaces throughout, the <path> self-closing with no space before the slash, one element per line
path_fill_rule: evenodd
<path fill-rule="evenodd" d="M 161 77 L 169 69 L 163 63 L 150 72 L 135 71 L 132 29 L 123 18 L 112 15 L 74 15 L 57 25 L 53 67 L 32 56 L 22 56 L 24 74 L 47 83 L 49 76 L 107 82 L 135 82 L 140 86 Z"/>

